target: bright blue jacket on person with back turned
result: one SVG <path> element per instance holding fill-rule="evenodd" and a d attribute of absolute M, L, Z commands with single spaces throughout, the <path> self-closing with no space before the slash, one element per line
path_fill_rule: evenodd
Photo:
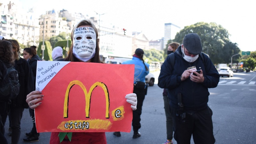
<path fill-rule="evenodd" d="M 145 62 L 145 65 L 148 67 L 148 71 L 145 68 L 145 65 L 142 60 L 136 57 L 132 57 L 132 60 L 124 61 L 122 64 L 134 64 L 134 84 L 137 81 L 145 82 L 145 76 L 149 73 L 149 64 Z"/>

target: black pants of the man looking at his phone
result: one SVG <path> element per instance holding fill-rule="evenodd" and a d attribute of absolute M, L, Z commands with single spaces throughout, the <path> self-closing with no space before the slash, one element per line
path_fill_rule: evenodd
<path fill-rule="evenodd" d="M 213 136 L 212 110 L 206 108 L 194 114 L 186 113 L 186 118 L 181 120 L 177 116 L 177 109 L 172 108 L 174 139 L 177 144 L 190 143 L 191 135 L 195 144 L 213 144 L 215 139 Z"/>

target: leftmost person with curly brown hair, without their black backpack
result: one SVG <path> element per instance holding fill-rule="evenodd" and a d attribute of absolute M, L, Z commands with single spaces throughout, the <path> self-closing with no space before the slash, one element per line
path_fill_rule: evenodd
<path fill-rule="evenodd" d="M 2 82 L 3 74 L 7 69 L 4 69 L 3 65 L 13 66 L 14 65 L 14 53 L 12 50 L 12 43 L 0 40 L 0 83 Z M 0 141 L 2 144 L 8 144 L 4 137 L 4 124 L 6 122 L 7 115 L 9 113 L 10 103 L 6 101 L 0 101 Z"/>

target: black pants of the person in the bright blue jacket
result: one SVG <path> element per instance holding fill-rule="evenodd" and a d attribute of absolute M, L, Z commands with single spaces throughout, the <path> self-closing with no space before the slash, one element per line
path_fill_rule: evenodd
<path fill-rule="evenodd" d="M 132 127 L 134 132 L 138 132 L 141 127 L 140 115 L 142 113 L 142 104 L 145 99 L 145 89 L 133 89 L 133 93 L 137 95 L 137 109 L 132 111 Z"/>

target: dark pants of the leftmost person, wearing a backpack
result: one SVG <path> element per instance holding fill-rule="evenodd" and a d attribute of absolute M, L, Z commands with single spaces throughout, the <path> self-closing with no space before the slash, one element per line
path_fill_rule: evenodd
<path fill-rule="evenodd" d="M 0 102 L 0 142 L 1 144 L 8 144 L 6 138 L 4 137 L 4 123 L 9 112 L 8 104 L 6 102 Z"/>

